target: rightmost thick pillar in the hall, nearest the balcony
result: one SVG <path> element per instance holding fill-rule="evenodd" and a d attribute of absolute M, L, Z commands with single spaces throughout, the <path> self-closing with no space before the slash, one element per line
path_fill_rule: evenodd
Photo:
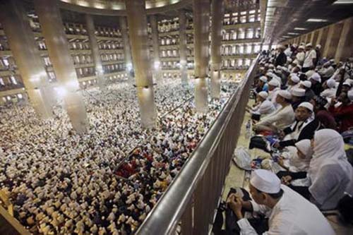
<path fill-rule="evenodd" d="M 220 99 L 220 69 L 222 66 L 223 0 L 212 1 L 211 25 L 211 97 Z"/>

